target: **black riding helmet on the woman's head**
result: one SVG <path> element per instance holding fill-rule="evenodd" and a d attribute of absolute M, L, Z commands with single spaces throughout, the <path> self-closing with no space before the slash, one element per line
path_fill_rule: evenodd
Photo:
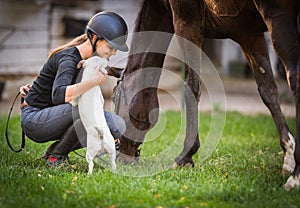
<path fill-rule="evenodd" d="M 120 51 L 128 51 L 126 45 L 128 28 L 122 17 L 113 12 L 99 12 L 94 15 L 86 26 L 86 33 L 91 39 L 91 33 L 97 36 L 94 42 L 93 51 L 96 51 L 96 43 L 99 39 L 106 40 L 112 47 Z"/>

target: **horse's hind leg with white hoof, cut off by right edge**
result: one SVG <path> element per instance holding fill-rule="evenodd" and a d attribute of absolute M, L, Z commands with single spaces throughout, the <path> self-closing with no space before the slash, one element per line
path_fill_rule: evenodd
<path fill-rule="evenodd" d="M 293 175 L 285 185 L 286 189 L 290 189 L 300 186 L 300 38 L 299 21 L 297 22 L 300 1 L 255 0 L 254 2 L 268 27 L 273 46 L 285 66 L 289 86 L 295 95 L 296 140 L 294 159 L 296 166 Z M 287 145 L 292 145 L 294 139 L 291 138 L 291 140 L 286 142 Z"/>

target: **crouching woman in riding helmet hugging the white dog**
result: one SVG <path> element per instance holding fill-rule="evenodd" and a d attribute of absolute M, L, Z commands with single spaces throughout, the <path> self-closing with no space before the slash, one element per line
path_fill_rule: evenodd
<path fill-rule="evenodd" d="M 78 68 L 93 54 L 109 58 L 117 50 L 128 51 L 127 32 L 127 25 L 118 14 L 96 14 L 88 22 L 86 34 L 52 50 L 32 86 L 20 88 L 25 98 L 21 125 L 26 136 L 39 143 L 56 141 L 43 156 L 46 164 L 57 166 L 68 158 L 69 152 L 86 146 L 78 108 L 69 102 L 103 84 L 105 75 L 96 70 L 92 79 L 78 82 Z M 126 128 L 123 119 L 109 112 L 105 112 L 105 118 L 114 138 L 119 138 Z"/>

